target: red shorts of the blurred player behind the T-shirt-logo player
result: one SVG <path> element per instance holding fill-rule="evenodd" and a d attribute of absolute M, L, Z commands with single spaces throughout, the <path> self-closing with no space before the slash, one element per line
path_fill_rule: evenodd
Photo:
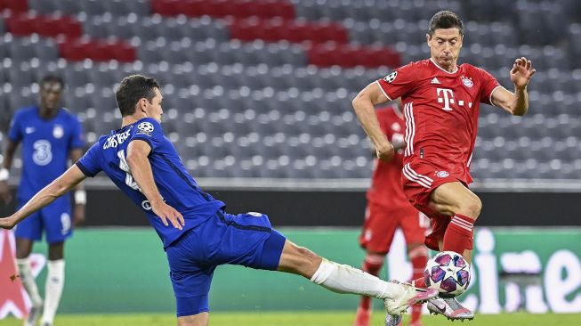
<path fill-rule="evenodd" d="M 398 227 L 403 231 L 406 243 L 422 243 L 430 223 L 424 214 L 409 205 L 386 208 L 369 202 L 359 244 L 363 249 L 385 254 L 390 250 L 391 240 Z"/>

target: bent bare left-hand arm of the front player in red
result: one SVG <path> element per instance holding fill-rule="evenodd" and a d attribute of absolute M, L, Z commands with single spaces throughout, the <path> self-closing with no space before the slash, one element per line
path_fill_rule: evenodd
<path fill-rule="evenodd" d="M 375 114 L 375 105 L 388 101 L 390 99 L 383 94 L 380 86 L 373 82 L 361 90 L 352 102 L 353 110 L 355 110 L 361 126 L 375 146 L 377 158 L 383 160 L 393 158 L 394 151 L 379 125 L 379 120 Z"/>

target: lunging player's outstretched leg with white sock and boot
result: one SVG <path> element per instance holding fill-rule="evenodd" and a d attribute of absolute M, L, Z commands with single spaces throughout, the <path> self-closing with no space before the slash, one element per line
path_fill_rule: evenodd
<path fill-rule="evenodd" d="M 319 257 L 311 250 L 286 240 L 278 270 L 303 275 L 336 293 L 351 293 L 383 299 L 388 314 L 402 314 L 408 306 L 438 295 L 433 289 L 416 289 L 411 284 L 383 281 L 350 265 Z"/>

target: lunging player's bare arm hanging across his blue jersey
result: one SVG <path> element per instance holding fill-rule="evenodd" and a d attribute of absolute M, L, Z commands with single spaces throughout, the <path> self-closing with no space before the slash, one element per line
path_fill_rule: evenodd
<path fill-rule="evenodd" d="M 157 190 L 148 159 L 150 152 L 149 143 L 140 139 L 133 140 L 127 146 L 127 165 L 129 165 L 133 179 L 139 185 L 141 192 L 149 200 L 153 213 L 161 218 L 165 226 L 169 225 L 167 222 L 169 220 L 173 227 L 182 230 L 182 225 L 185 224 L 182 214 L 165 204 L 163 197 Z"/>

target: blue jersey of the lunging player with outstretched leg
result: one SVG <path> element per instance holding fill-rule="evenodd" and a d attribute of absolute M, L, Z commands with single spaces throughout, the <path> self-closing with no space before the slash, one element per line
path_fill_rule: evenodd
<path fill-rule="evenodd" d="M 161 219 L 153 214 L 149 201 L 133 180 L 126 156 L 127 146 L 136 139 L 149 143 L 151 152 L 148 159 L 157 189 L 165 202 L 184 217 L 185 225 L 182 231 L 171 224 L 165 226 Z M 186 231 L 214 216 L 225 206 L 222 201 L 214 200 L 200 189 L 198 183 L 183 167 L 182 160 L 178 157 L 173 144 L 165 137 L 161 125 L 153 118 L 142 118 L 132 125 L 101 136 L 99 142 L 94 143 L 85 156 L 79 159 L 77 167 L 87 176 L 105 172 L 148 216 L 149 224 L 156 229 L 157 235 L 164 242 L 164 248 Z"/>

